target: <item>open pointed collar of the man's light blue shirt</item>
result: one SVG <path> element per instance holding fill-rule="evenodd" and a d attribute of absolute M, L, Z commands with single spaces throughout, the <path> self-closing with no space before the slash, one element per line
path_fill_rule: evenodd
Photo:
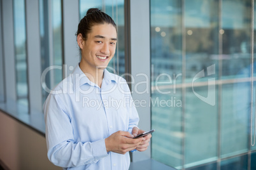
<path fill-rule="evenodd" d="M 74 88 L 80 88 L 83 84 L 89 84 L 90 86 L 96 86 L 93 82 L 89 80 L 89 78 L 83 73 L 83 71 L 80 69 L 79 64 L 76 65 L 74 71 L 73 71 L 73 83 L 75 83 Z M 112 74 L 108 72 L 108 70 L 104 69 L 104 77 L 103 81 L 106 82 L 106 84 L 110 84 L 111 81 L 117 82 L 118 81 L 118 75 Z M 75 90 L 74 89 L 74 90 Z"/>

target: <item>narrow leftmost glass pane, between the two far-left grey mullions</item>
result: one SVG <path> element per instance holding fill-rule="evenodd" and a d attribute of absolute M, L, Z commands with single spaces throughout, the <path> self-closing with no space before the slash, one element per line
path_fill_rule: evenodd
<path fill-rule="evenodd" d="M 15 43 L 15 69 L 17 82 L 17 100 L 22 105 L 28 106 L 27 87 L 27 53 L 26 53 L 26 28 L 25 28 L 25 2 L 13 1 L 14 43 Z"/>

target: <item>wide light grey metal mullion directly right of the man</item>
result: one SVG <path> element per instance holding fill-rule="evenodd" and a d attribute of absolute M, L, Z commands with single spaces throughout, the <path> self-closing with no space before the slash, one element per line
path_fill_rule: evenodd
<path fill-rule="evenodd" d="M 150 85 L 136 84 L 145 79 L 141 79 L 138 74 L 144 74 L 147 77 L 147 83 L 150 84 L 150 0 L 148 1 L 130 1 L 130 29 L 131 29 L 131 75 L 134 77 L 134 84 L 132 84 L 132 98 L 133 100 L 145 100 L 148 105 L 146 107 L 137 107 L 140 121 L 139 128 L 149 130 L 151 128 L 150 119 Z M 143 61 L 143 64 L 141 64 Z M 138 91 L 136 91 L 136 89 Z M 148 90 L 148 93 L 139 94 L 142 89 Z M 143 152 L 134 152 L 132 159 L 136 162 L 139 160 L 150 159 L 151 148 Z"/>

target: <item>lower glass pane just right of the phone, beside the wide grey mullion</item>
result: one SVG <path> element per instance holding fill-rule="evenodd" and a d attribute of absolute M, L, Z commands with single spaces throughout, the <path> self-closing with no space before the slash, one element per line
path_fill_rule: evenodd
<path fill-rule="evenodd" d="M 160 87 L 159 87 L 160 88 Z M 181 166 L 181 91 L 155 89 L 152 93 L 152 158 L 169 166 Z M 171 91 L 162 95 L 160 91 Z"/>

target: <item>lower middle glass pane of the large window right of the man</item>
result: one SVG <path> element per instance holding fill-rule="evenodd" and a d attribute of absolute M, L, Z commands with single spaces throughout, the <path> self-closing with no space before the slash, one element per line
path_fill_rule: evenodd
<path fill-rule="evenodd" d="M 188 167 L 217 160 L 218 105 L 197 98 L 210 95 L 208 86 L 187 88 L 185 110 L 185 163 Z M 215 95 L 215 94 L 213 94 Z M 217 96 L 211 96 L 216 98 Z"/>

